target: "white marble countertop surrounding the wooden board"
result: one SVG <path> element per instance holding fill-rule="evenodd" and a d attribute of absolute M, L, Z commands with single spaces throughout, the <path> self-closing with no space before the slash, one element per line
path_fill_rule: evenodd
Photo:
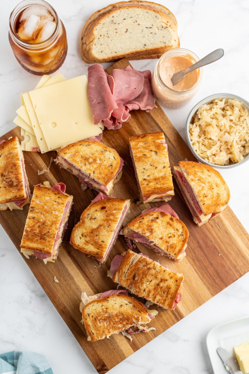
<path fill-rule="evenodd" d="M 37 76 L 19 66 L 9 46 L 8 20 L 16 3 L 15 0 L 2 2 L 0 12 L 1 135 L 15 126 L 12 121 L 19 107 L 20 92 L 29 91 L 38 82 Z M 87 74 L 88 65 L 81 59 L 79 50 L 81 29 L 93 12 L 109 2 L 51 0 L 50 3 L 62 19 L 68 36 L 68 55 L 60 72 L 66 78 Z M 223 48 L 225 52 L 222 59 L 204 67 L 202 85 L 189 104 L 181 109 L 164 109 L 185 139 L 187 115 L 200 99 L 213 93 L 227 92 L 249 100 L 249 2 L 160 0 L 160 3 L 177 18 L 181 47 L 194 51 L 200 58 L 217 48 Z M 139 70 L 149 68 L 153 71 L 156 61 L 131 63 Z M 104 64 L 105 68 L 107 66 Z M 248 168 L 249 163 L 245 163 L 221 174 L 231 191 L 229 205 L 249 232 Z M 1 226 L 0 237 L 0 353 L 15 349 L 37 351 L 46 356 L 55 374 L 96 373 Z M 213 373 L 206 335 L 216 325 L 249 315 L 248 284 L 249 273 L 109 373 Z"/>

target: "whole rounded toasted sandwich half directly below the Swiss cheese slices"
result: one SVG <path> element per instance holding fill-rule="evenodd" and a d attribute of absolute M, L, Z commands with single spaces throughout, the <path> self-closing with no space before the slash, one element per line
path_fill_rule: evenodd
<path fill-rule="evenodd" d="M 76 175 L 83 189 L 109 195 L 121 178 L 124 160 L 113 148 L 91 138 L 67 145 L 57 153 L 55 162 Z"/>

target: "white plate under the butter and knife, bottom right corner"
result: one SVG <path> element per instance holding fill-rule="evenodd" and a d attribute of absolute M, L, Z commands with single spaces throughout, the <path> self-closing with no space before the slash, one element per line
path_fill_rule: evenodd
<path fill-rule="evenodd" d="M 233 347 L 240 344 L 249 344 L 249 317 L 227 322 L 209 331 L 206 346 L 214 374 L 227 373 L 216 349 L 223 347 L 235 358 Z"/>

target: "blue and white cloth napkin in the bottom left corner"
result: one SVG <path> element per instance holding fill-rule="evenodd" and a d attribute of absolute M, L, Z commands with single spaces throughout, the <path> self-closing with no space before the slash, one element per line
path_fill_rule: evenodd
<path fill-rule="evenodd" d="M 0 374 L 53 374 L 40 353 L 12 351 L 0 355 Z"/>

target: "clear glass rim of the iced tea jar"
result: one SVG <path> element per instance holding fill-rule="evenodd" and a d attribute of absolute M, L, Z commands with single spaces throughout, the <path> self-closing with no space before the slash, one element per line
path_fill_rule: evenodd
<path fill-rule="evenodd" d="M 16 33 L 15 33 L 15 22 L 16 22 L 16 19 L 18 17 L 18 15 L 24 11 L 26 8 L 32 6 L 32 5 L 38 5 L 38 6 L 43 6 L 45 7 L 47 10 L 50 11 L 50 13 L 53 15 L 53 17 L 55 18 L 55 23 L 56 23 L 56 28 L 55 30 L 53 31 L 53 33 L 50 35 L 49 38 L 47 38 L 46 40 L 44 40 L 43 42 L 38 42 L 38 43 L 29 43 L 29 42 L 25 42 L 24 40 L 20 39 Z M 22 47 L 26 47 L 26 48 L 29 48 L 29 49 L 40 49 L 42 47 L 47 47 L 47 43 L 53 43 L 55 42 L 55 39 L 58 35 L 58 32 L 59 32 L 59 29 L 60 29 L 60 18 L 58 17 L 55 9 L 53 8 L 52 5 L 50 5 L 49 3 L 47 3 L 47 1 L 45 0 L 23 0 L 21 1 L 20 3 L 16 4 L 16 6 L 12 9 L 12 12 L 10 13 L 10 18 L 9 18 L 9 34 L 10 34 L 10 37 L 12 38 L 13 42 L 15 42 L 16 44 L 22 46 Z"/>

